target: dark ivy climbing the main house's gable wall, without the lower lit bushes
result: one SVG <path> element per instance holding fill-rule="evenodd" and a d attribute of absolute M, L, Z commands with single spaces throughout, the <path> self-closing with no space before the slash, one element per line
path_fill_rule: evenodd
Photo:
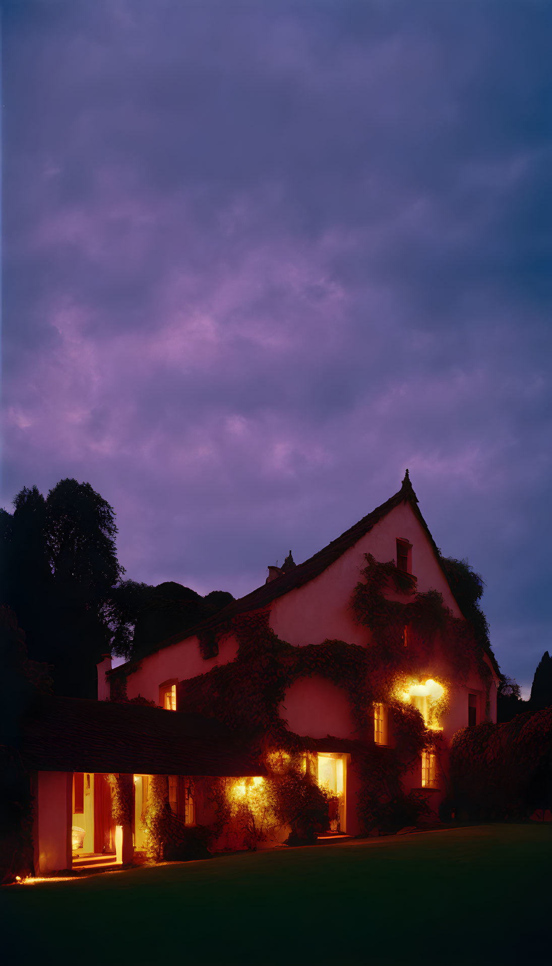
<path fill-rule="evenodd" d="M 406 681 L 432 677 L 443 683 L 447 694 L 452 681 L 465 680 L 476 668 L 486 687 L 488 714 L 491 671 L 471 625 L 452 616 L 440 593 L 417 593 L 411 575 L 397 570 L 394 561 L 380 563 L 371 554 L 365 556 L 362 576 L 351 609 L 368 631 L 367 647 L 329 639 L 293 646 L 270 629 L 270 611 L 239 615 L 218 628 L 218 638 L 210 631 L 212 647 L 224 634 L 235 633 L 235 661 L 183 681 L 178 704 L 246 733 L 270 771 L 275 749 L 296 754 L 315 745 L 288 731 L 280 718 L 279 705 L 287 690 L 304 677 L 327 678 L 345 692 L 358 735 L 355 756 L 362 779 L 358 809 L 363 830 L 391 831 L 426 809 L 423 794 L 405 795 L 401 779 L 414 768 L 423 748 L 433 749 L 439 757 L 442 752 L 439 733 L 426 728 L 420 712 L 400 700 Z M 390 590 L 398 599 L 386 596 Z M 373 744 L 374 701 L 389 707 L 392 748 Z M 444 698 L 437 716 L 446 710 Z M 229 814 L 228 810 L 229 806 Z M 218 811 L 224 813 L 221 804 Z"/>

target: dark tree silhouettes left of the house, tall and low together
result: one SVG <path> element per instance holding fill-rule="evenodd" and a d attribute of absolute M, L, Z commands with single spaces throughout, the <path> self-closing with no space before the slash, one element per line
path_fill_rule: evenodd
<path fill-rule="evenodd" d="M 51 668 L 58 694 L 97 696 L 102 655 L 130 657 L 185 632 L 231 594 L 202 598 L 179 583 L 124 580 L 115 512 L 90 483 L 60 480 L 47 497 L 23 487 L 0 511 L 2 599 L 23 628 L 29 658 Z"/>

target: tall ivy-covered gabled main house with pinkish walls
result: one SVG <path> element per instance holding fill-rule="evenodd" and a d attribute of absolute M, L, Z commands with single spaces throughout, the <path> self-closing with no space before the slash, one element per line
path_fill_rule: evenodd
<path fill-rule="evenodd" d="M 436 818 L 451 738 L 496 722 L 500 680 L 450 590 L 407 470 L 363 520 L 304 563 L 290 554 L 269 567 L 262 586 L 185 637 L 118 668 L 106 657 L 98 696 L 145 698 L 167 718 L 200 714 L 247 735 L 257 781 L 243 769 L 226 795 L 243 800 L 253 826 L 268 809 L 261 773 L 281 790 L 287 769 L 324 792 L 322 831 L 358 835 Z M 190 774 L 176 753 L 169 763 L 174 781 Z M 207 811 L 196 801 L 194 821 Z M 291 819 L 259 834 L 281 840 L 290 828 L 301 838 Z"/>

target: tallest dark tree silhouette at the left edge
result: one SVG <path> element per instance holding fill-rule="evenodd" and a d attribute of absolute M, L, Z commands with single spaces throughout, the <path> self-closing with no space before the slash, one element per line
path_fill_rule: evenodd
<path fill-rule="evenodd" d="M 36 486 L 23 487 L 14 507 L 0 521 L 2 603 L 17 614 L 29 657 L 51 666 L 54 690 L 94 697 L 96 664 L 114 633 L 105 601 L 124 574 L 113 508 L 74 479 L 60 480 L 45 500 Z"/>

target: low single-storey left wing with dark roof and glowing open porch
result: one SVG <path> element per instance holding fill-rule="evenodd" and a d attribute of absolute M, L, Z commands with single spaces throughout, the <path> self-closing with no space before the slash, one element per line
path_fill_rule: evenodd
<path fill-rule="evenodd" d="M 195 802 L 210 817 L 194 777 L 265 774 L 247 741 L 223 725 L 139 704 L 39 694 L 16 745 L 35 803 L 27 865 L 36 875 L 131 862 L 145 846 L 143 819 L 158 777 L 163 820 L 178 832 L 195 824 Z"/>

